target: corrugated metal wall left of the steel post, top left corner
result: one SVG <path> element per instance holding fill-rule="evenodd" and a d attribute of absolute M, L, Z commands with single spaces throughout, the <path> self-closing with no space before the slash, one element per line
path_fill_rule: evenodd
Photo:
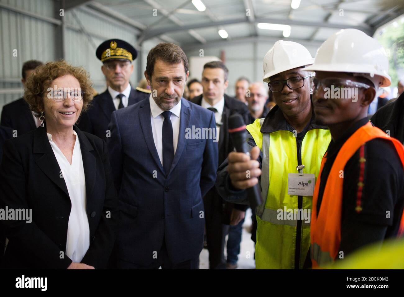
<path fill-rule="evenodd" d="M 38 13 L 48 17 L 53 14 L 52 0 L 0 0 L 0 3 Z M 24 61 L 53 59 L 54 26 L 46 21 L 27 17 L 0 8 L 0 89 L 13 88 L 8 94 L 0 94 L 0 108 L 22 96 L 21 68 Z M 39 34 L 41 32 L 41 34 Z M 17 56 L 14 57 L 13 53 Z M 20 88 L 20 91 L 18 90 Z"/>

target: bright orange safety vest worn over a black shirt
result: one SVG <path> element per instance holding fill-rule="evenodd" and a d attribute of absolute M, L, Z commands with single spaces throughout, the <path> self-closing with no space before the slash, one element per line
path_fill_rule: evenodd
<path fill-rule="evenodd" d="M 373 127 L 370 122 L 360 127 L 349 139 L 343 144 L 341 150 L 332 164 L 330 174 L 326 181 L 323 199 L 320 206 L 320 214 L 317 217 L 317 199 L 320 187 L 320 177 L 324 164 L 327 160 L 327 153 L 321 161 L 320 173 L 316 186 L 314 188 L 313 208 L 311 210 L 311 262 L 313 268 L 331 264 L 337 257 L 338 249 L 341 242 L 341 208 L 343 198 L 343 178 L 340 172 L 344 170 L 345 164 L 355 154 L 355 152 L 364 143 L 375 139 L 383 138 L 393 143 L 400 157 L 404 168 L 404 147 L 397 139 L 388 137 L 386 133 L 379 128 Z M 362 151 L 363 152 L 363 151 Z M 362 163 L 365 160 L 362 161 Z M 364 168 L 364 164 L 363 167 Z M 361 183 L 362 181 L 360 181 Z M 359 184 L 359 183 L 358 183 Z M 362 187 L 359 185 L 359 187 Z M 404 232 L 404 214 L 400 221 L 400 230 L 398 236 Z"/>

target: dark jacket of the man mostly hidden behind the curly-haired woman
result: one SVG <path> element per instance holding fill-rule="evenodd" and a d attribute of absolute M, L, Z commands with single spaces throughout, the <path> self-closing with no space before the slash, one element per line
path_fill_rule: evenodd
<path fill-rule="evenodd" d="M 17 130 L 18 136 L 36 128 L 29 105 L 23 98 L 3 106 L 0 125 Z"/>

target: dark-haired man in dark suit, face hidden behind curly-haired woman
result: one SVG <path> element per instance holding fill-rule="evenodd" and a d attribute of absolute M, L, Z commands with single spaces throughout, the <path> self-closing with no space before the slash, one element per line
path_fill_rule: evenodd
<path fill-rule="evenodd" d="M 27 78 L 34 73 L 35 68 L 39 65 L 42 65 L 42 62 L 36 60 L 29 60 L 23 64 L 21 82 L 24 87 Z M 40 122 L 29 110 L 27 102 L 20 98 L 3 106 L 0 124 L 17 130 L 18 136 L 34 130 Z"/>

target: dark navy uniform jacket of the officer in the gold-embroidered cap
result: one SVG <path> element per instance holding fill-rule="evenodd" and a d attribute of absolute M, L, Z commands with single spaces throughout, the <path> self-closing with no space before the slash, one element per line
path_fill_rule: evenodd
<path fill-rule="evenodd" d="M 149 98 L 149 95 L 132 88 L 129 93 L 128 106 Z M 104 93 L 94 97 L 92 106 L 80 116 L 78 126 L 81 131 L 97 135 L 106 141 L 107 127 L 111 121 L 111 114 L 114 111 L 114 101 L 107 89 Z"/>

